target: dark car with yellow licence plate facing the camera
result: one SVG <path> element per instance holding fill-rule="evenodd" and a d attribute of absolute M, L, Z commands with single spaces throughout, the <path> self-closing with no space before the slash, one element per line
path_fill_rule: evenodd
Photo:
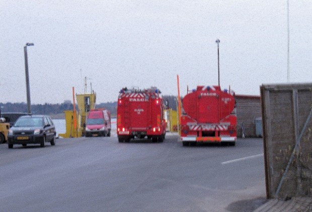
<path fill-rule="evenodd" d="M 49 116 L 22 116 L 9 130 L 8 145 L 10 149 L 14 144 L 40 144 L 44 147 L 45 142 L 50 142 L 55 145 L 55 135 L 55 126 Z"/>

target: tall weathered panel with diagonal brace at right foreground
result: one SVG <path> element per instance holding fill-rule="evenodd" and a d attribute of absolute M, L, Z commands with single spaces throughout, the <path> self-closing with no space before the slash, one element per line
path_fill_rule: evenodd
<path fill-rule="evenodd" d="M 312 84 L 261 86 L 268 198 L 312 196 Z"/>

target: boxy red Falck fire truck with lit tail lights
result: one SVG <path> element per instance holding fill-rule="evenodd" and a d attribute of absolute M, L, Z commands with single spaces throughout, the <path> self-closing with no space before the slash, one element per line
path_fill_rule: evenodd
<path fill-rule="evenodd" d="M 163 142 L 166 134 L 164 104 L 157 87 L 127 89 L 119 92 L 117 102 L 117 136 L 119 142 L 152 139 Z"/>

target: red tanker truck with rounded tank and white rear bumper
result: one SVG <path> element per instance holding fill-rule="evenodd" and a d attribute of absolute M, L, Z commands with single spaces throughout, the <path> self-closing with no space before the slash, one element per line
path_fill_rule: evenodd
<path fill-rule="evenodd" d="M 197 142 L 226 142 L 235 145 L 237 117 L 235 93 L 220 86 L 197 86 L 182 100 L 181 141 L 183 146 Z"/>

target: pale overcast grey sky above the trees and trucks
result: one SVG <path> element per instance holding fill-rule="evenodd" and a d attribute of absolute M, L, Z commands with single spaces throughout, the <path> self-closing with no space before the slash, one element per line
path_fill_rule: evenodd
<path fill-rule="evenodd" d="M 312 79 L 312 1 L 289 0 L 290 82 Z M 97 93 L 115 101 L 122 87 L 218 83 L 260 95 L 262 83 L 287 82 L 287 0 L 0 1 L 0 102 L 72 101 Z"/>

